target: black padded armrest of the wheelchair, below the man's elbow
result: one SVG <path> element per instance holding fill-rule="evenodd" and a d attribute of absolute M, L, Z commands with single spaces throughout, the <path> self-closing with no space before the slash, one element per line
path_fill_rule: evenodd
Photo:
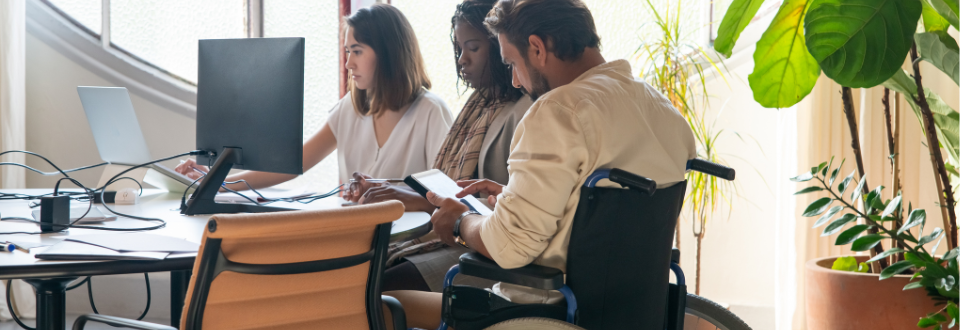
<path fill-rule="evenodd" d="M 533 264 L 503 269 L 476 252 L 460 256 L 460 274 L 543 290 L 559 290 L 563 287 L 563 272 L 559 269 Z"/>

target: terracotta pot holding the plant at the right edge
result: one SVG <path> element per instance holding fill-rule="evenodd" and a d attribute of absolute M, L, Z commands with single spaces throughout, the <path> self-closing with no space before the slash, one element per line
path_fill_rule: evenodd
<path fill-rule="evenodd" d="M 857 256 L 858 262 L 869 259 Z M 806 265 L 807 329 L 919 329 L 917 321 L 938 310 L 922 288 L 903 291 L 909 275 L 880 281 L 880 274 L 830 269 L 837 257 Z M 943 307 L 943 306 L 940 306 Z"/>

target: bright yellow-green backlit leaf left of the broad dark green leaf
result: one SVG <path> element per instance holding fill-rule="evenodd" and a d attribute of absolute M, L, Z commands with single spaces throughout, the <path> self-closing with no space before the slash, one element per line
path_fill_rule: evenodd
<path fill-rule="evenodd" d="M 767 108 L 800 102 L 817 84 L 820 65 L 807 52 L 803 15 L 809 0 L 787 0 L 753 53 L 753 73 L 747 77 L 753 99 Z"/>

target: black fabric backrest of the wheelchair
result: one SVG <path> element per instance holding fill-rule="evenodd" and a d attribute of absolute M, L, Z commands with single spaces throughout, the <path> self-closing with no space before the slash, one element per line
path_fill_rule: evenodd
<path fill-rule="evenodd" d="M 652 196 L 636 189 L 581 188 L 566 273 L 579 326 L 663 329 L 685 190 L 686 181 Z"/>

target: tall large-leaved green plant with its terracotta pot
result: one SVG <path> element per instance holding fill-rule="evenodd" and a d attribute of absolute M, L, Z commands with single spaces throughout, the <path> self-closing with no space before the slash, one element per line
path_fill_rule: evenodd
<path fill-rule="evenodd" d="M 733 1 L 724 15 L 714 44 L 719 53 L 731 55 L 740 32 L 749 24 L 762 2 L 763 0 Z M 838 234 L 838 245 L 850 244 L 854 251 L 869 251 L 871 256 L 853 260 L 815 260 L 808 263 L 807 299 L 808 302 L 816 301 L 821 305 L 818 308 L 822 307 L 828 312 L 847 312 L 843 317 L 848 320 L 877 323 L 843 323 L 842 320 L 831 319 L 830 322 L 817 324 L 818 329 L 902 329 L 906 325 L 895 323 L 902 321 L 887 318 L 889 316 L 907 317 L 911 320 L 910 323 L 915 322 L 920 327 L 955 325 L 957 223 L 950 173 L 956 176 L 956 164 L 960 158 L 958 116 L 956 110 L 923 87 L 919 61 L 930 62 L 949 75 L 955 83 L 958 81 L 960 71 L 957 66 L 957 42 L 946 33 L 950 26 L 957 28 L 958 16 L 957 0 L 784 0 L 770 26 L 756 44 L 755 68 L 748 80 L 754 99 L 764 107 L 783 108 L 796 104 L 810 93 L 821 72 L 843 86 L 843 110 L 850 129 L 851 147 L 856 156 L 856 171 L 834 188 L 839 166 L 831 168 L 831 160 L 801 174 L 794 178 L 794 181 L 816 180 L 815 182 L 819 183 L 818 186 L 807 187 L 798 193 L 829 194 L 828 197 L 811 203 L 804 211 L 805 216 L 819 216 L 815 226 L 827 225 L 825 236 Z M 921 17 L 924 32 L 917 33 Z M 912 77 L 901 69 L 908 54 L 913 64 Z M 938 211 L 943 219 L 943 226 L 935 228 L 927 235 L 922 235 L 926 228 L 925 211 L 913 210 L 909 204 L 904 210 L 899 189 L 896 187 L 892 189 L 892 197 L 884 200 L 883 188 L 878 186 L 871 190 L 864 179 L 863 157 L 851 88 L 879 85 L 886 88 L 884 111 L 887 118 L 890 117 L 890 111 L 886 95 L 889 90 L 893 90 L 904 95 L 924 128 L 937 183 L 938 205 L 942 206 Z M 889 121 L 888 119 L 888 123 Z M 889 124 L 887 128 L 889 145 L 893 151 L 896 146 L 895 139 L 891 137 L 895 135 Z M 946 151 L 952 164 L 944 159 L 941 148 Z M 891 152 L 890 157 L 896 160 L 897 153 Z M 859 179 L 851 191 L 850 186 L 853 185 L 855 175 Z M 845 197 L 844 193 L 850 193 L 850 197 Z M 834 204 L 839 205 L 831 207 Z M 858 204 L 862 206 L 858 207 Z M 833 216 L 841 211 L 847 213 L 834 219 Z M 904 212 L 907 214 L 906 218 L 903 216 Z M 848 225 L 850 226 L 847 227 Z M 914 235 L 911 230 L 920 232 Z M 883 249 L 880 241 L 885 238 L 894 242 L 893 248 Z M 949 247 L 949 252 L 941 258 L 933 255 L 932 251 L 935 249 L 926 249 L 927 244 L 939 242 L 938 239 L 944 239 Z M 866 263 L 861 266 L 860 262 Z M 873 262 L 876 264 L 868 265 Z M 826 266 L 830 265 L 848 270 L 873 268 L 879 274 L 830 273 L 828 271 L 832 270 L 826 269 Z M 821 274 L 824 272 L 828 274 Z M 896 277 L 901 273 L 909 274 L 906 280 L 912 281 L 904 286 L 907 292 L 894 297 L 896 299 L 864 296 L 883 291 L 882 287 L 890 285 L 892 281 L 902 281 L 903 279 Z M 854 289 L 855 291 L 844 291 L 844 286 L 851 289 L 851 283 L 858 283 L 853 281 L 857 278 L 867 278 L 867 282 L 864 282 L 866 286 L 858 287 L 861 289 Z M 816 282 L 818 279 L 824 282 Z M 884 281 L 876 281 L 877 279 Z M 916 292 L 923 293 L 910 291 L 917 288 L 926 291 L 929 298 L 924 298 L 931 306 L 923 303 L 910 305 L 928 308 L 927 312 L 887 309 L 883 317 L 856 313 L 865 309 L 883 310 L 898 302 L 912 299 L 910 297 L 915 298 Z M 856 296 L 855 302 L 847 300 L 851 295 Z M 869 303 L 865 304 L 864 301 Z M 814 317 L 825 317 L 824 314 L 816 313 L 808 311 L 808 323 L 813 324 L 816 321 Z M 923 316 L 926 313 L 930 314 Z M 916 321 L 917 318 L 920 318 L 919 322 Z"/>

